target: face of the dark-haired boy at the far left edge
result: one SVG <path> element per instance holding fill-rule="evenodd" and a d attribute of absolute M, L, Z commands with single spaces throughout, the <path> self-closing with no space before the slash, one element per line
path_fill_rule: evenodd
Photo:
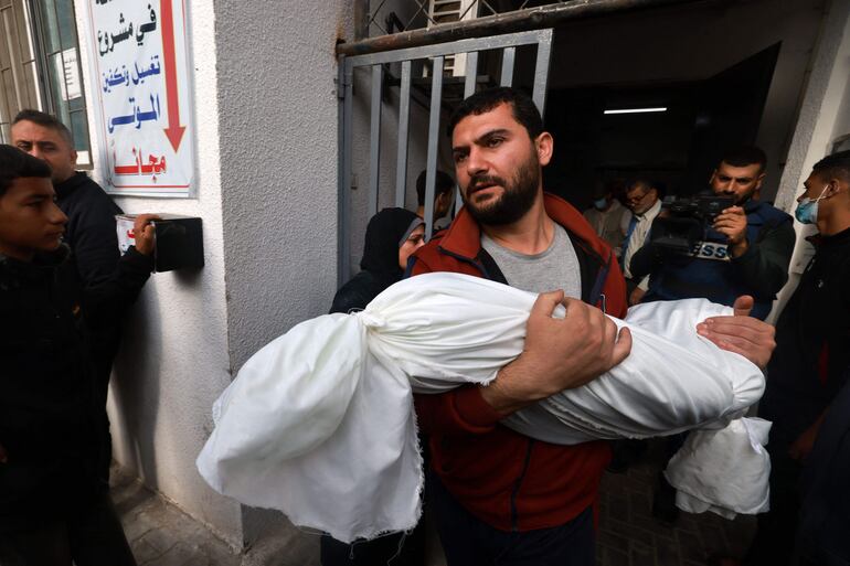
<path fill-rule="evenodd" d="M 55 195 L 47 178 L 12 181 L 0 196 L 0 254 L 30 261 L 36 252 L 60 246 L 67 216 L 53 201 Z"/>

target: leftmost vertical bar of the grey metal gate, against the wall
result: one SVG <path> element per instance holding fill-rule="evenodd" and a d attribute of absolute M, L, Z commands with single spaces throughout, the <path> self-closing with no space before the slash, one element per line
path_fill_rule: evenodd
<path fill-rule="evenodd" d="M 351 151 L 352 151 L 352 115 L 353 115 L 353 66 L 346 57 L 340 57 L 340 88 L 342 99 L 342 170 L 339 185 L 339 268 L 337 284 L 341 287 L 351 277 Z"/>

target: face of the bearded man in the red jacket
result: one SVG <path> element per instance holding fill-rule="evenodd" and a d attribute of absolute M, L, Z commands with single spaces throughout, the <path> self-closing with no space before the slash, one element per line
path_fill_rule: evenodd
<path fill-rule="evenodd" d="M 451 148 L 464 204 L 481 224 L 512 224 L 542 194 L 540 169 L 551 158 L 552 137 L 532 140 L 510 105 L 461 119 Z"/>

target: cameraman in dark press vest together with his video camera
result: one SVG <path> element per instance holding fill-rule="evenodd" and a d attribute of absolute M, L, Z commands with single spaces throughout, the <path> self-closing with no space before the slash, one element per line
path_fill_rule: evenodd
<path fill-rule="evenodd" d="M 766 161 L 755 147 L 727 151 L 709 181 L 711 195 L 665 202 L 629 266 L 634 277 L 649 275 L 644 302 L 705 298 L 731 307 L 750 295 L 755 301 L 751 316 L 767 317 L 788 279 L 796 236 L 788 214 L 758 201 Z M 731 197 L 734 205 L 714 215 L 719 203 L 712 196 Z M 684 438 L 668 437 L 668 456 Z M 679 515 L 676 490 L 663 474 L 652 496 L 652 515 L 667 523 Z"/>

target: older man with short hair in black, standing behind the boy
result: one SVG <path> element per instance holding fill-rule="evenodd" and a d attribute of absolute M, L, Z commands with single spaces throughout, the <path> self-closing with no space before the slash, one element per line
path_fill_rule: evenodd
<path fill-rule="evenodd" d="M 64 242 L 74 252 L 72 261 L 83 287 L 94 287 L 107 280 L 118 265 L 118 236 L 115 215 L 121 210 L 87 174 L 76 171 L 77 152 L 64 124 L 39 110 L 22 110 L 12 122 L 12 143 L 32 157 L 42 159 L 53 170 L 56 204 L 67 216 Z M 98 399 L 104 407 L 103 434 L 111 447 L 106 396 L 113 361 L 120 345 L 119 319 L 93 325 L 92 362 L 98 383 Z M 109 477 L 111 450 L 104 453 L 100 471 Z"/>

